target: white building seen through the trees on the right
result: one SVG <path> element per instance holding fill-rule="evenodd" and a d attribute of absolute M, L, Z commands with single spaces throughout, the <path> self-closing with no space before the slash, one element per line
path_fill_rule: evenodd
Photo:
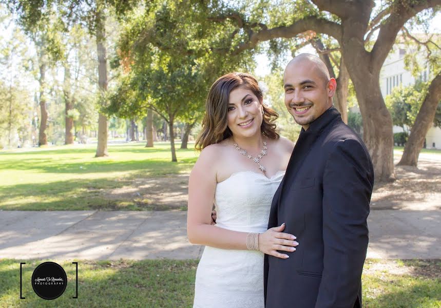
<path fill-rule="evenodd" d="M 416 80 L 411 72 L 405 69 L 404 56 L 405 49 L 397 49 L 389 53 L 388 58 L 383 64 L 380 72 L 380 88 L 383 98 L 392 93 L 395 87 L 400 85 L 409 86 L 415 84 Z M 422 56 L 421 56 L 422 58 Z M 427 81 L 430 76 L 429 67 L 425 67 L 420 72 L 419 78 Z M 399 126 L 393 127 L 393 132 L 402 132 Z M 425 147 L 428 149 L 441 149 L 441 129 L 432 126 L 426 134 Z"/>

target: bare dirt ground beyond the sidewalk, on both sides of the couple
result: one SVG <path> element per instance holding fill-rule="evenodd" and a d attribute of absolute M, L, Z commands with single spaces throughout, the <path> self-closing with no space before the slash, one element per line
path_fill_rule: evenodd
<path fill-rule="evenodd" d="M 441 160 L 395 166 L 395 175 L 394 182 L 375 183 L 371 209 L 441 210 Z M 137 178 L 121 188 L 100 189 L 100 195 L 112 209 L 186 210 L 188 175 Z"/>

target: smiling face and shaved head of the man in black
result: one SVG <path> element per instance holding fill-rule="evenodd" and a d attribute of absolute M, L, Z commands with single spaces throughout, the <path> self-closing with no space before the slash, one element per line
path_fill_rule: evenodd
<path fill-rule="evenodd" d="M 285 106 L 305 130 L 332 107 L 336 83 L 323 66 L 309 56 L 299 55 L 286 66 L 283 75 Z"/>

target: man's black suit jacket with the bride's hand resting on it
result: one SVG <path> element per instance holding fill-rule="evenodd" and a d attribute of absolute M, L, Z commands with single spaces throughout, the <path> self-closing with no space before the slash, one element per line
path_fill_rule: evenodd
<path fill-rule="evenodd" d="M 374 171 L 369 152 L 335 108 L 300 132 L 268 228 L 297 237 L 289 259 L 265 255 L 267 308 L 361 307 Z"/>

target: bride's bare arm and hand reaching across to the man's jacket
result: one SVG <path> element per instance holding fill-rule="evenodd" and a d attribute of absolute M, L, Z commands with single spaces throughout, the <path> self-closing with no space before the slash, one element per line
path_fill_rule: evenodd
<path fill-rule="evenodd" d="M 227 230 L 211 225 L 212 206 L 216 190 L 217 151 L 206 147 L 199 156 L 188 181 L 187 236 L 190 243 L 223 249 L 247 249 L 246 232 Z M 284 225 L 259 235 L 259 250 L 286 258 L 276 251 L 292 251 L 297 246 L 295 237 L 281 233 Z M 286 257 L 285 257 L 286 256 Z"/>

